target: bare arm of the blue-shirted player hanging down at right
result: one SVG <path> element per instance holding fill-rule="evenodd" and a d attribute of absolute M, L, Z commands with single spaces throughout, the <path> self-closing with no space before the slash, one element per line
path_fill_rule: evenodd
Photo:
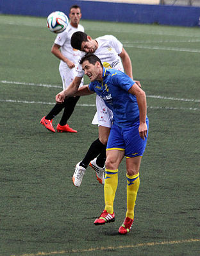
<path fill-rule="evenodd" d="M 133 94 L 137 98 L 138 108 L 140 111 L 140 126 L 138 128 L 140 137 L 145 140 L 147 137 L 147 124 L 146 124 L 146 115 L 147 115 L 147 101 L 146 93 L 140 87 L 133 85 L 131 89 L 128 90 L 129 93 Z"/>

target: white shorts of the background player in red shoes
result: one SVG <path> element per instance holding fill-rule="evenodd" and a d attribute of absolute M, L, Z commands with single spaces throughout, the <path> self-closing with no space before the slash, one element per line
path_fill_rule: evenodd
<path fill-rule="evenodd" d="M 63 83 L 63 90 L 67 89 L 67 87 L 69 87 L 71 82 L 74 80 L 77 73 L 76 67 L 77 65 L 75 65 L 75 67 L 73 67 L 72 69 L 70 69 L 69 67 L 59 67 L 60 76 L 62 78 Z M 79 87 L 81 86 L 83 86 L 83 78 L 81 80 L 81 84 L 79 85 Z"/>

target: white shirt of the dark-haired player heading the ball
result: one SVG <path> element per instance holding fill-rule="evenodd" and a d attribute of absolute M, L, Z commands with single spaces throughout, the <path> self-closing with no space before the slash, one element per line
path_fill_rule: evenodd
<path fill-rule="evenodd" d="M 124 72 L 124 67 L 119 56 L 119 54 L 122 52 L 122 43 L 119 42 L 116 37 L 113 37 L 113 35 L 97 37 L 96 41 L 98 43 L 98 47 L 94 52 L 94 55 L 100 58 L 103 66 L 112 67 L 113 69 Z M 85 54 L 86 53 L 82 53 L 81 57 L 83 57 Z M 84 71 L 80 64 L 78 70 L 79 71 L 76 73 L 76 76 L 84 76 Z"/>

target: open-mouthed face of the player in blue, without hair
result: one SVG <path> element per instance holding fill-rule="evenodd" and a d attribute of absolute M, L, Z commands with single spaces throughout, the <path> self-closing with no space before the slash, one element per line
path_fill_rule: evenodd
<path fill-rule="evenodd" d="M 88 76 L 90 81 L 100 80 L 102 79 L 102 73 L 101 73 L 101 65 L 99 62 L 96 62 L 96 64 L 90 64 L 88 60 L 85 60 L 82 64 L 82 69 L 84 73 Z"/>

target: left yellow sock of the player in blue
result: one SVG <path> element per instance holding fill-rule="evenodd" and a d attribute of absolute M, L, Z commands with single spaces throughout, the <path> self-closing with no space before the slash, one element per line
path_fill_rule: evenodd
<path fill-rule="evenodd" d="M 118 183 L 118 169 L 106 169 L 105 184 L 104 184 L 104 200 L 105 209 L 110 214 L 113 214 L 113 202 L 115 200 L 115 192 Z"/>

